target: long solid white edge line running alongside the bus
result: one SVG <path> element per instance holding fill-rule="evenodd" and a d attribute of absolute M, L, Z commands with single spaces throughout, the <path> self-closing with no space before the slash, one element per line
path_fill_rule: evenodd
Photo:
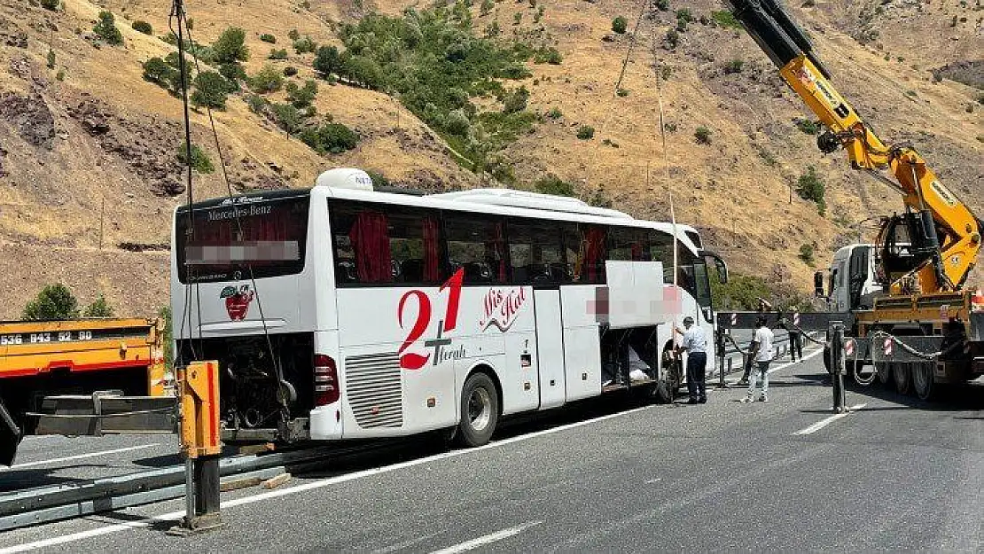
<path fill-rule="evenodd" d="M 242 498 L 236 498 L 236 499 L 230 500 L 228 502 L 223 501 L 221 503 L 221 506 L 222 506 L 222 509 L 223 510 L 224 509 L 227 509 L 227 508 L 234 508 L 236 506 L 243 506 L 243 505 L 247 505 L 247 504 L 253 504 L 253 503 L 256 503 L 256 502 L 262 502 L 264 500 L 269 500 L 271 498 L 278 498 L 278 497 L 281 497 L 281 496 L 286 496 L 288 494 L 295 494 L 295 493 L 305 492 L 305 491 L 309 491 L 309 490 L 320 489 L 320 488 L 327 487 L 329 485 L 334 485 L 334 484 L 342 483 L 342 482 L 345 482 L 345 481 L 351 481 L 351 480 L 354 480 L 354 479 L 360 479 L 362 477 L 368 477 L 368 476 L 371 476 L 371 475 L 379 475 L 379 474 L 382 474 L 382 473 L 389 473 L 391 471 L 396 471 L 397 469 L 403 469 L 403 468 L 406 468 L 406 467 L 412 467 L 414 465 L 420 465 L 420 464 L 428 463 L 428 462 L 437 462 L 439 460 L 445 460 L 445 459 L 448 459 L 448 458 L 457 458 L 459 456 L 464 456 L 464 455 L 475 453 L 475 452 L 481 452 L 483 450 L 494 449 L 494 448 L 498 448 L 498 447 L 510 445 L 510 444 L 513 444 L 513 443 L 518 443 L 518 442 L 521 442 L 521 441 L 526 441 L 526 440 L 529 440 L 529 439 L 534 439 L 536 437 L 540 437 L 540 436 L 543 436 L 543 435 L 549 435 L 551 433 L 558 433 L 560 431 L 567 431 L 568 429 L 574 429 L 574 428 L 577 428 L 577 427 L 581 427 L 583 425 L 589 425 L 591 423 L 596 423 L 598 421 L 604 421 L 606 419 L 612 419 L 614 417 L 620 417 L 622 415 L 628 415 L 630 413 L 636 413 L 636 412 L 643 411 L 643 410 L 646 410 L 646 409 L 650 409 L 650 408 L 653 408 L 653 407 L 656 407 L 656 406 L 654 406 L 654 405 L 646 405 L 646 406 L 637 407 L 637 408 L 633 408 L 633 409 L 627 409 L 625 411 L 620 411 L 618 413 L 609 413 L 607 415 L 601 415 L 601 416 L 595 417 L 593 419 L 585 419 L 584 421 L 576 421 L 574 423 L 568 423 L 567 425 L 561 425 L 559 427 L 553 427 L 551 429 L 544 429 L 542 431 L 534 431 L 532 433 L 528 433 L 528 434 L 525 434 L 525 435 L 519 435 L 519 436 L 516 436 L 516 437 L 510 437 L 509 439 L 504 439 L 502 441 L 496 441 L 496 442 L 493 442 L 493 443 L 489 443 L 489 444 L 487 444 L 485 446 L 481 446 L 481 447 L 478 447 L 478 448 L 472 448 L 472 449 L 467 449 L 467 450 L 456 450 L 456 451 L 452 451 L 452 452 L 444 452 L 444 453 L 441 453 L 441 454 L 435 454 L 434 456 L 428 456 L 426 458 L 420 458 L 420 459 L 417 459 L 417 460 L 410 460 L 410 461 L 407 461 L 407 462 L 399 462 L 399 463 L 394 463 L 392 465 L 384 465 L 382 467 L 372 467 L 370 469 L 363 469 L 361 471 L 355 471 L 355 472 L 352 472 L 352 473 L 346 473 L 344 475 L 337 475 L 335 477 L 328 477 L 328 478 L 325 478 L 325 479 L 319 479 L 317 481 L 311 481 L 311 482 L 308 482 L 308 483 L 303 483 L 303 484 L 295 485 L 295 486 L 292 486 L 292 487 L 286 487 L 286 488 L 282 488 L 282 489 L 279 489 L 279 490 L 272 490 L 272 491 L 269 491 L 269 492 L 264 492 L 264 493 L 256 494 L 256 495 L 253 495 L 253 496 L 246 496 L 246 497 L 242 497 Z M 122 530 L 126 530 L 126 529 L 149 527 L 154 522 L 172 522 L 172 521 L 180 520 L 184 515 L 185 515 L 185 512 L 184 512 L 184 510 L 182 510 L 180 512 L 170 512 L 168 514 L 161 514 L 160 516 L 154 516 L 153 518 L 148 518 L 148 519 L 140 520 L 140 521 L 136 521 L 136 522 L 116 523 L 116 524 L 112 524 L 112 525 L 106 525 L 104 527 L 97 527 L 97 528 L 94 528 L 94 529 L 85 530 L 85 531 L 79 531 L 79 532 L 70 533 L 70 534 L 53 536 L 53 537 L 50 537 L 50 538 L 45 538 L 45 539 L 41 539 L 41 540 L 35 540 L 33 542 L 26 542 L 24 544 L 17 544 L 17 545 L 14 545 L 14 546 L 8 546 L 6 548 L 0 548 L 0 554 L 10 554 L 10 553 L 14 553 L 14 552 L 26 552 L 28 550 L 34 550 L 36 548 L 45 548 L 45 547 L 48 547 L 48 546 L 54 546 L 56 544 L 65 544 L 65 543 L 68 543 L 68 542 L 75 542 L 75 541 L 78 541 L 78 540 L 92 538 L 92 537 L 95 537 L 95 536 L 102 536 L 102 535 L 105 535 L 105 534 L 114 533 L 114 532 L 122 531 Z"/>

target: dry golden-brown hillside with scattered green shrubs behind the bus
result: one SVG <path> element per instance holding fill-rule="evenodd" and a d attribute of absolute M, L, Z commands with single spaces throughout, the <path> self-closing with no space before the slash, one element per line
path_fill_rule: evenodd
<path fill-rule="evenodd" d="M 287 81 L 302 85 L 316 77 L 315 55 L 296 53 L 288 31 L 343 50 L 342 24 L 371 12 L 399 18 L 407 5 L 242 0 L 187 9 L 196 42 L 211 44 L 228 27 L 242 28 L 248 75 L 267 64 L 277 71 L 294 67 L 297 75 Z M 559 64 L 528 60 L 527 77 L 499 80 L 507 96 L 521 86 L 528 91 L 520 114 L 529 113 L 532 123 L 518 127 L 516 140 L 483 143 L 495 143 L 488 173 L 465 168 L 456 153 L 470 143 L 449 135 L 446 123 L 435 124 L 447 118 L 425 123 L 414 115 L 405 94 L 398 99 L 318 80 L 318 117 L 331 114 L 357 133 L 355 148 L 319 154 L 251 110 L 250 92 L 232 93 L 226 109 L 214 111 L 230 184 L 236 191 L 310 186 L 319 172 L 349 165 L 426 190 L 489 186 L 496 182 L 490 175 L 531 187 L 553 173 L 583 198 L 640 217 L 667 218 L 672 195 L 679 220 L 700 227 L 735 271 L 808 290 L 814 269 L 798 257 L 800 247 L 814 246 L 822 266 L 834 247 L 856 239 L 857 222 L 898 210 L 896 194 L 851 171 L 843 154 L 816 150 L 815 137 L 796 124 L 807 118 L 806 108 L 744 31 L 715 22 L 720 5 L 680 0 L 667 7 L 647 9 L 634 40 L 636 3 L 504 0 L 487 10 L 477 2 L 467 8 L 476 36 L 491 34 L 495 22 L 493 40 L 503 48 L 520 39 L 562 56 Z M 0 269 L 8 276 L 0 318 L 17 317 L 53 280 L 69 284 L 82 302 L 102 292 L 125 315 L 151 315 L 166 303 L 169 215 L 187 198 L 175 157 L 181 103 L 146 81 L 142 64 L 174 50 L 162 39 L 169 8 L 163 0 L 66 0 L 56 11 L 8 0 L 0 7 Z M 684 8 L 693 21 L 672 45 L 667 34 L 679 25 L 675 11 Z M 115 15 L 122 45 L 93 35 L 101 10 Z M 808 0 L 791 10 L 838 89 L 883 138 L 915 146 L 984 214 L 984 105 L 973 87 L 980 87 L 984 64 L 980 7 L 953 0 Z M 611 30 L 616 16 L 628 20 L 629 32 Z M 153 34 L 131 29 L 138 20 L 150 23 Z M 277 43 L 261 40 L 265 33 Z M 926 47 L 927 36 L 939 37 L 938 47 Z M 268 60 L 272 48 L 287 50 L 287 59 Z M 263 96 L 285 101 L 282 91 Z M 660 96 L 669 130 L 665 153 Z M 491 96 L 472 102 L 489 112 L 503 105 Z M 512 121 L 500 119 L 482 120 L 486 135 L 500 136 L 497 130 Z M 192 121 L 196 144 L 217 167 L 208 117 L 195 111 Z M 594 129 L 589 140 L 578 138 L 584 126 Z M 709 131 L 709 144 L 696 139 L 699 127 Z M 825 215 L 793 192 L 811 165 L 827 185 Z M 221 171 L 195 174 L 196 198 L 225 191 Z M 870 224 L 861 228 L 868 238 Z"/>

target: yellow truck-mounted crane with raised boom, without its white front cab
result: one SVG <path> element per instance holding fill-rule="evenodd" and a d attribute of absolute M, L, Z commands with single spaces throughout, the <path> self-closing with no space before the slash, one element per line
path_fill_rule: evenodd
<path fill-rule="evenodd" d="M 873 307 L 864 309 L 852 299 L 849 312 L 812 318 L 817 327 L 847 322 L 852 369 L 874 365 L 883 383 L 893 380 L 899 392 L 911 384 L 923 399 L 934 393 L 935 384 L 984 374 L 984 304 L 979 292 L 963 290 L 980 253 L 984 224 L 911 146 L 887 144 L 875 134 L 834 89 L 809 37 L 778 0 L 726 1 L 824 126 L 817 138 L 820 150 L 843 149 L 853 168 L 902 195 L 904 213 L 883 217 L 874 247 L 875 280 L 882 290 Z M 867 269 L 863 260 L 857 264 L 863 266 L 860 272 Z M 856 276 L 849 277 L 853 282 Z M 893 348 L 896 343 L 901 347 Z M 855 379 L 862 381 L 857 374 Z"/>

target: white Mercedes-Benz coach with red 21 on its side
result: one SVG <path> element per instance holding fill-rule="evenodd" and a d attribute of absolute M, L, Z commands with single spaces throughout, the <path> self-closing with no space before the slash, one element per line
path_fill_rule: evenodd
<path fill-rule="evenodd" d="M 713 337 L 706 257 L 726 276 L 678 225 L 664 284 L 673 229 L 505 189 L 376 192 L 357 169 L 181 207 L 177 361 L 219 361 L 228 441 L 447 429 L 475 446 L 503 415 L 634 386 L 665 400 L 671 326 Z"/>

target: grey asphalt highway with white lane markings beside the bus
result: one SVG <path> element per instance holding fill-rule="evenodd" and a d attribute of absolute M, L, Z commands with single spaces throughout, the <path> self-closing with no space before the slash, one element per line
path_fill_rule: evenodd
<path fill-rule="evenodd" d="M 811 353 L 773 365 L 768 403 L 609 398 L 480 449 L 421 439 L 223 493 L 224 525 L 201 535 L 164 533 L 172 501 L 8 531 L 0 553 L 982 551 L 984 386 L 932 403 L 851 389 L 834 417 Z"/>

